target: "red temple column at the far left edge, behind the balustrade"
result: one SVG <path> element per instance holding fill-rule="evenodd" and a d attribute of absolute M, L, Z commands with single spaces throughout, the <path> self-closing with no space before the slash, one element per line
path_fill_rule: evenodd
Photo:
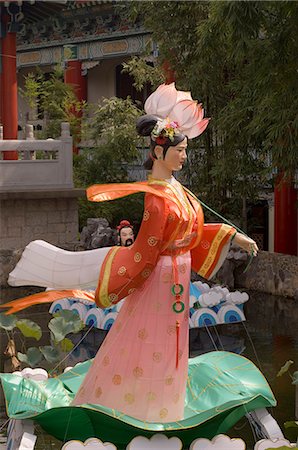
<path fill-rule="evenodd" d="M 16 33 L 2 38 L 2 124 L 4 139 L 18 137 L 18 87 Z M 18 152 L 4 152 L 4 159 L 18 159 Z"/>

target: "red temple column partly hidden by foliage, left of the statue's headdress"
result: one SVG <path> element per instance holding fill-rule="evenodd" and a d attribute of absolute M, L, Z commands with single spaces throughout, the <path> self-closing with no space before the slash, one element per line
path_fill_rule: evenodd
<path fill-rule="evenodd" d="M 64 82 L 70 84 L 74 88 L 74 92 L 79 102 L 87 100 L 87 77 L 82 75 L 81 61 L 68 61 L 64 72 Z M 74 113 L 77 117 L 81 116 L 81 111 Z M 78 153 L 78 148 L 73 147 L 74 153 Z"/>

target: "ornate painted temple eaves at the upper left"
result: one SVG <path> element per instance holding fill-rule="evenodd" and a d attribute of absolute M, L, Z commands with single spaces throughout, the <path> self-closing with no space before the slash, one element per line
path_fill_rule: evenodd
<path fill-rule="evenodd" d="M 81 61 L 139 54 L 150 34 L 128 1 L 0 0 L 0 12 L 17 35 L 18 67 L 60 64 L 70 51 Z"/>

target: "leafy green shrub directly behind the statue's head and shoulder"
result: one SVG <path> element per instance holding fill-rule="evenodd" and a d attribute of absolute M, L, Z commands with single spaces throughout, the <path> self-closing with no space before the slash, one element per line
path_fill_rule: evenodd
<path fill-rule="evenodd" d="M 136 133 L 135 122 L 141 114 L 141 109 L 130 98 L 112 97 L 96 106 L 85 130 L 85 138 L 92 146 L 82 149 L 74 158 L 76 186 L 129 181 L 129 164 L 140 158 L 142 139 Z M 80 226 L 88 217 L 105 217 L 112 226 L 125 218 L 140 222 L 142 210 L 143 196 L 139 194 L 104 203 L 82 199 Z"/>

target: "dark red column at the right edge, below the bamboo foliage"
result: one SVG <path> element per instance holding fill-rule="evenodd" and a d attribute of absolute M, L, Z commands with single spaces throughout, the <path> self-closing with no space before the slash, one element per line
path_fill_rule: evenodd
<path fill-rule="evenodd" d="M 297 190 L 282 176 L 274 188 L 274 251 L 297 255 Z"/>

